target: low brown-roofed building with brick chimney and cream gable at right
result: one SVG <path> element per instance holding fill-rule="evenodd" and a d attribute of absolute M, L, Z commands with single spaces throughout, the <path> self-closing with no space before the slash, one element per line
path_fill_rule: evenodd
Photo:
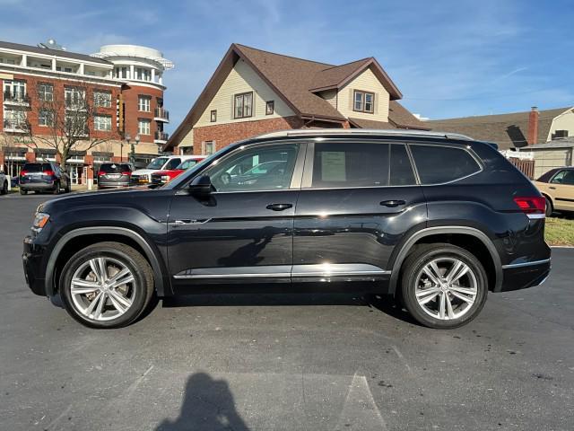
<path fill-rule="evenodd" d="M 544 144 L 552 139 L 574 136 L 574 109 L 510 112 L 457 119 L 437 119 L 424 124 L 441 132 L 462 133 L 495 142 L 501 150 Z"/>

